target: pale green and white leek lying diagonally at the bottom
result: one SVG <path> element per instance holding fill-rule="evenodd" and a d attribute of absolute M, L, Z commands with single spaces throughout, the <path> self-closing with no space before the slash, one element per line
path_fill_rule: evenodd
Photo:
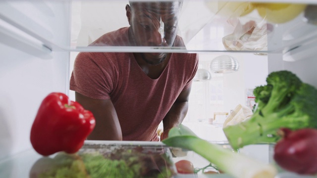
<path fill-rule="evenodd" d="M 167 146 L 192 150 L 234 178 L 274 178 L 277 174 L 272 165 L 201 139 L 184 125 L 172 128 L 162 142 Z"/>

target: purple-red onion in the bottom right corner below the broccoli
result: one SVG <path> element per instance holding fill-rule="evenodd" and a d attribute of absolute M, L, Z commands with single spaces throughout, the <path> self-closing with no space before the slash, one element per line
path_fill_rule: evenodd
<path fill-rule="evenodd" d="M 274 160 L 283 169 L 300 175 L 317 174 L 317 130 L 281 128 L 283 138 L 274 147 Z"/>

